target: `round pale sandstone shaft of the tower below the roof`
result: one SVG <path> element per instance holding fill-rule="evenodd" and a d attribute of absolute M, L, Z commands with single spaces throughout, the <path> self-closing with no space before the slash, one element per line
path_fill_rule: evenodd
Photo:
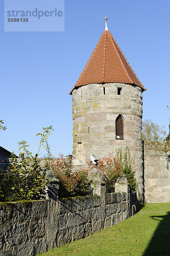
<path fill-rule="evenodd" d="M 118 95 L 121 87 L 121 95 Z M 91 154 L 103 157 L 116 148 L 130 148 L 135 159 L 138 199 L 143 200 L 141 140 L 142 89 L 122 83 L 87 84 L 72 92 L 73 158 L 84 165 Z M 124 140 L 115 138 L 115 120 L 124 120 Z"/>

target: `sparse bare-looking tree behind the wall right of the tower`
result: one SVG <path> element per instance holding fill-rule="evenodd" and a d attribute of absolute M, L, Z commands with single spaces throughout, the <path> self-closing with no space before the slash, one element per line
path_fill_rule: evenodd
<path fill-rule="evenodd" d="M 164 126 L 155 124 L 150 119 L 142 122 L 142 140 L 164 140 L 165 136 Z"/>

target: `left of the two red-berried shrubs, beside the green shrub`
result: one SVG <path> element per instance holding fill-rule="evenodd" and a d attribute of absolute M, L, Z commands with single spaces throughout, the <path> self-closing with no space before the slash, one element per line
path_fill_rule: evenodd
<path fill-rule="evenodd" d="M 51 169 L 60 180 L 59 197 L 86 195 L 89 187 L 86 184 L 88 173 L 83 169 L 73 171 L 72 156 L 52 158 Z"/>

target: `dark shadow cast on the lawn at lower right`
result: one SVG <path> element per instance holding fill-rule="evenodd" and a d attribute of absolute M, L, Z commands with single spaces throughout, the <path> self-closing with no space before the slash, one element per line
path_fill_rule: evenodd
<path fill-rule="evenodd" d="M 170 256 L 170 212 L 166 215 L 150 216 L 160 221 L 143 256 Z"/>

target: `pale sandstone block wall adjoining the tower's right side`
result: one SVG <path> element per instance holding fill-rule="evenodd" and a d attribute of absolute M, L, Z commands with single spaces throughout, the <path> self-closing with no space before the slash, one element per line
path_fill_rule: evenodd
<path fill-rule="evenodd" d="M 164 142 L 144 142 L 145 203 L 170 202 L 170 153 Z"/>

